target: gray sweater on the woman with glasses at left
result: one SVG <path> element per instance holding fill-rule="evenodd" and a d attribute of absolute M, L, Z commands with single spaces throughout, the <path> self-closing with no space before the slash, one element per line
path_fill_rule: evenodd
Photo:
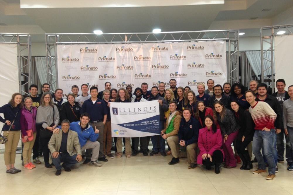
<path fill-rule="evenodd" d="M 52 106 L 39 106 L 37 112 L 36 123 L 42 123 L 42 127 L 46 129 L 47 126 L 50 126 L 53 122 L 55 125 L 59 123 L 59 112 L 57 106 L 54 105 L 55 115 L 53 119 L 53 108 Z"/>

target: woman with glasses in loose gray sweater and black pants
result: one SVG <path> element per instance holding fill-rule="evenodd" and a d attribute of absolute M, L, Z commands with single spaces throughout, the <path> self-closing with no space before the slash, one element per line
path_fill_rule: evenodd
<path fill-rule="evenodd" d="M 52 136 L 53 130 L 59 123 L 59 112 L 57 106 L 54 105 L 52 96 L 49 92 L 43 93 L 41 104 L 37 112 L 37 124 L 41 124 L 40 137 L 44 156 L 45 167 L 52 168 L 49 164 L 49 148 L 48 143 Z"/>

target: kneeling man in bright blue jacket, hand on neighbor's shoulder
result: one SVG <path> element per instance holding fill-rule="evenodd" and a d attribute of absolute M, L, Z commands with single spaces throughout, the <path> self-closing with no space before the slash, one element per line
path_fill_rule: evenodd
<path fill-rule="evenodd" d="M 92 156 L 89 166 L 100 167 L 102 164 L 98 163 L 100 143 L 96 141 L 99 137 L 99 130 L 95 126 L 95 131 L 90 124 L 88 124 L 90 116 L 88 113 L 83 113 L 80 116 L 79 122 L 70 123 L 70 130 L 75 131 L 78 135 L 81 151 L 92 149 Z M 58 133 L 59 127 L 54 129 L 53 133 Z"/>

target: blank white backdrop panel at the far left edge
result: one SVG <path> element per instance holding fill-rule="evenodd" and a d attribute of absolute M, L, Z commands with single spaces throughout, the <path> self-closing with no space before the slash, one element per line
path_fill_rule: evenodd
<path fill-rule="evenodd" d="M 19 92 L 17 45 L 0 43 L 0 106 L 7 104 L 13 93 Z M 1 114 L 3 117 L 3 114 Z M 3 123 L 0 123 L 2 129 Z M 0 144 L 0 149 L 4 144 Z"/>

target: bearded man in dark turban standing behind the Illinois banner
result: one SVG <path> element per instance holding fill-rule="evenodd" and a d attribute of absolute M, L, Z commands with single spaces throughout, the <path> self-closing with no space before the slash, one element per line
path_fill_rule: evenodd
<path fill-rule="evenodd" d="M 139 88 L 139 87 L 136 88 L 134 90 L 134 94 L 135 94 L 136 98 L 132 99 L 131 102 L 147 102 L 147 100 L 142 97 L 142 89 L 141 88 Z M 131 138 L 131 141 L 132 141 L 132 146 L 131 146 L 132 155 L 136 156 L 139 153 L 138 145 L 139 145 L 139 142 L 140 142 L 140 149 L 142 149 L 143 155 L 147 156 L 148 155 L 147 148 L 149 146 L 149 140 L 150 139 L 151 139 L 150 136 L 140 137 L 140 138 L 139 137 Z"/>

